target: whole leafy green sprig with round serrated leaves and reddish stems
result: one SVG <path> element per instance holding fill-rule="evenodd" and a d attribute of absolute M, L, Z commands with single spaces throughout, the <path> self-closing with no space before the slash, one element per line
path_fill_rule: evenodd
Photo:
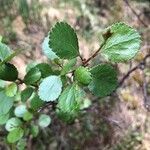
<path fill-rule="evenodd" d="M 0 85 L 0 125 L 8 133 L 7 142 L 19 145 L 29 135 L 37 137 L 39 130 L 51 124 L 51 117 L 44 113 L 49 106 L 59 119 L 73 123 L 83 109 L 92 105 L 85 88 L 99 99 L 114 92 L 118 79 L 111 63 L 133 59 L 139 52 L 140 38 L 132 27 L 115 23 L 105 29 L 99 49 L 85 59 L 79 52 L 75 30 L 58 22 L 42 44 L 52 64 L 28 64 L 23 79 L 18 77 L 19 68 L 10 63 L 20 50 L 12 52 L 0 38 L 0 79 L 4 84 Z M 90 67 L 89 62 L 99 53 L 109 63 Z M 20 84 L 25 89 L 21 90 Z"/>

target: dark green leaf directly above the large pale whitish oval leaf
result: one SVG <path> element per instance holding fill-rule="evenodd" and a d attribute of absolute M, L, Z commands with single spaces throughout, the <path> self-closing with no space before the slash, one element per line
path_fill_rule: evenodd
<path fill-rule="evenodd" d="M 38 64 L 38 65 L 36 65 L 36 67 L 40 70 L 42 78 L 46 78 L 46 77 L 54 74 L 50 65 L 48 65 L 46 63 Z"/>

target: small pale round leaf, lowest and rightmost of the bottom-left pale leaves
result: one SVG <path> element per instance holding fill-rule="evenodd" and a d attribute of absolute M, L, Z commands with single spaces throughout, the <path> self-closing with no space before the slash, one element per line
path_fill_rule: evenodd
<path fill-rule="evenodd" d="M 45 128 L 51 123 L 51 118 L 48 115 L 42 114 L 39 117 L 38 124 L 40 127 Z"/>

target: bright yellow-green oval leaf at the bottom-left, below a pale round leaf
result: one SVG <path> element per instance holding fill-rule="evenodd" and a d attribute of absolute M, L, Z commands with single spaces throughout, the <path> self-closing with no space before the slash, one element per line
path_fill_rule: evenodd
<path fill-rule="evenodd" d="M 9 132 L 7 140 L 9 143 L 15 143 L 23 137 L 24 131 L 22 128 L 16 128 Z"/>

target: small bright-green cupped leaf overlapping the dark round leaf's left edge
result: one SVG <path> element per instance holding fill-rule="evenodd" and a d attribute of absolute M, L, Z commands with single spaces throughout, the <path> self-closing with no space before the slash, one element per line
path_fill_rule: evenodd
<path fill-rule="evenodd" d="M 88 85 L 92 80 L 91 73 L 83 66 L 80 66 L 75 71 L 75 79 L 84 85 Z"/>

